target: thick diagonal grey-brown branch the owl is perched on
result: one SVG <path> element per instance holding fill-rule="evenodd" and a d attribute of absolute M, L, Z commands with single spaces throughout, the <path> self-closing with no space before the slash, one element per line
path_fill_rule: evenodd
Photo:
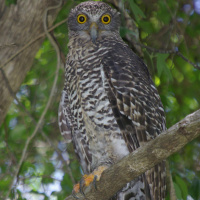
<path fill-rule="evenodd" d="M 105 170 L 100 181 L 96 183 L 97 190 L 89 186 L 84 189 L 85 197 L 78 197 L 87 200 L 109 199 L 123 188 L 126 183 L 179 151 L 199 135 L 200 110 L 186 116 L 155 140 L 148 142 Z M 69 196 L 66 200 L 74 200 L 74 197 Z"/>

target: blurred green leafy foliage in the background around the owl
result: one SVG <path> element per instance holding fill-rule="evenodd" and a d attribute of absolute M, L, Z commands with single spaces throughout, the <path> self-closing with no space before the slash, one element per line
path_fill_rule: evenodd
<path fill-rule="evenodd" d="M 66 1 L 55 23 L 65 19 L 70 9 L 80 2 Z M 123 2 L 125 11 L 139 28 L 140 42 L 151 47 L 142 46 L 143 59 L 159 90 L 168 127 L 200 107 L 200 70 L 195 69 L 177 54 L 168 52 L 168 50 L 178 50 L 188 60 L 200 63 L 200 16 L 195 2 L 197 1 L 125 0 Z M 136 33 L 129 30 L 125 26 L 126 21 L 123 20 L 122 13 L 120 33 L 127 41 L 126 35 L 133 36 Z M 66 24 L 54 30 L 65 56 L 68 51 L 67 32 Z M 0 199 L 3 199 L 8 192 L 26 141 L 34 130 L 33 119 L 38 121 L 49 98 L 55 66 L 55 51 L 50 42 L 45 40 L 35 56 L 31 71 L 17 93 L 17 98 L 24 108 L 14 100 L 0 127 Z M 61 200 L 71 193 L 74 181 L 70 173 L 75 181 L 81 178 L 72 145 L 64 143 L 57 125 L 57 109 L 63 81 L 64 69 L 61 69 L 54 103 L 45 117 L 42 130 L 32 140 L 26 152 L 11 197 Z M 27 112 L 32 117 L 27 115 Z M 194 200 L 200 199 L 199 147 L 198 138 L 169 159 L 178 199 L 187 199 L 189 196 Z"/>

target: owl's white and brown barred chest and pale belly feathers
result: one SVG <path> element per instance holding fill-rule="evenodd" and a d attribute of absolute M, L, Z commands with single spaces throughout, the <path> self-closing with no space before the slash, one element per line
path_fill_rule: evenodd
<path fill-rule="evenodd" d="M 109 83 L 101 64 L 101 59 L 111 47 L 89 44 L 86 43 L 88 46 L 84 52 L 82 47 L 76 49 L 76 53 L 70 49 L 66 76 L 69 90 L 71 88 L 71 110 L 81 132 L 73 137 L 80 137 L 78 140 L 85 139 L 89 143 L 91 170 L 105 161 L 110 165 L 128 155 L 129 151 L 113 115 L 106 92 Z M 76 68 L 72 68 L 72 63 Z"/>

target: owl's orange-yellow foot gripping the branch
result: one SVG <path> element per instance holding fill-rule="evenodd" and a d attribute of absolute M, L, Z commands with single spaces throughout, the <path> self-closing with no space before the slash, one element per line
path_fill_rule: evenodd
<path fill-rule="evenodd" d="M 93 183 L 96 188 L 96 181 L 100 180 L 102 172 L 107 168 L 107 166 L 99 166 L 91 174 L 85 174 L 81 179 L 80 183 L 74 185 L 73 195 L 79 192 L 84 195 L 83 187 L 88 187 L 91 183 Z"/>

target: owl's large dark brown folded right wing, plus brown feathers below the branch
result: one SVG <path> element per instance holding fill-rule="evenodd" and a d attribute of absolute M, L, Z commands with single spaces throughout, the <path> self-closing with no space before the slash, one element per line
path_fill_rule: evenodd
<path fill-rule="evenodd" d="M 160 97 L 147 67 L 128 47 L 118 44 L 112 53 L 105 55 L 102 68 L 109 83 L 106 90 L 113 113 L 132 152 L 165 129 Z M 146 194 L 150 187 L 153 199 L 164 196 L 162 173 L 165 167 L 160 163 L 143 175 Z"/>

